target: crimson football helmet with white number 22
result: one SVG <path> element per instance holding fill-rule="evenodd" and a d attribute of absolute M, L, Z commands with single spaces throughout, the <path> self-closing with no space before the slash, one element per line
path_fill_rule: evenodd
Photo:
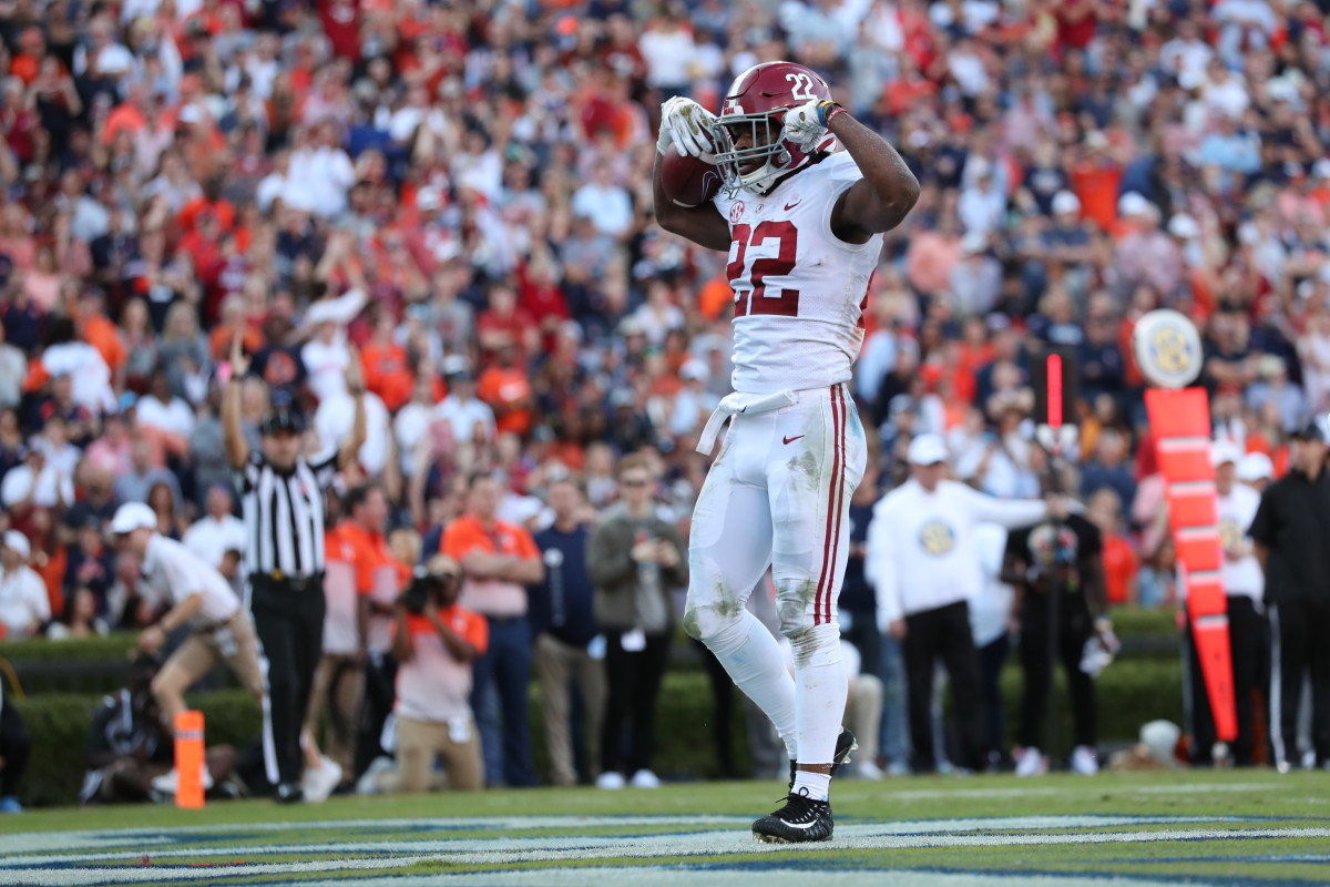
<path fill-rule="evenodd" d="M 716 121 L 716 165 L 725 186 L 766 194 L 777 178 L 807 164 L 809 154 L 785 138 L 785 112 L 814 100 L 830 101 L 831 88 L 793 61 L 767 61 L 735 77 Z M 745 134 L 751 138 L 737 148 Z"/>

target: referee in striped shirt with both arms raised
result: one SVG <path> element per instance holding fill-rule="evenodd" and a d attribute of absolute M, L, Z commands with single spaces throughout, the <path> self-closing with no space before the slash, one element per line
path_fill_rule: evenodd
<path fill-rule="evenodd" d="M 250 452 L 241 431 L 241 380 L 247 371 L 237 335 L 222 434 L 242 495 L 250 609 L 267 661 L 263 762 L 269 781 L 277 783 L 277 801 L 291 803 L 303 799 L 301 727 L 323 645 L 323 488 L 339 468 L 355 463 L 364 443 L 364 379 L 352 351 L 346 372 L 355 398 L 351 435 L 340 449 L 311 463 L 301 455 L 303 423 L 286 407 L 267 415 L 261 452 Z"/>

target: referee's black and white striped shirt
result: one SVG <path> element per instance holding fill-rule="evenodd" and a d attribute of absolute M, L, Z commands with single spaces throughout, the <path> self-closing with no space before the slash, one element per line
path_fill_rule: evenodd
<path fill-rule="evenodd" d="M 237 472 L 245 513 L 245 564 L 251 573 L 305 578 L 323 572 L 323 488 L 336 473 L 336 451 L 303 457 L 283 473 L 258 451 Z"/>

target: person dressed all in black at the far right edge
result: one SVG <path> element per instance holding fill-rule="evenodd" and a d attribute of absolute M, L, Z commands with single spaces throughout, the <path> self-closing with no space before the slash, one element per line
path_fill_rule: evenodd
<path fill-rule="evenodd" d="M 1270 484 L 1248 535 L 1265 568 L 1270 613 L 1270 743 L 1275 766 L 1287 773 L 1294 747 L 1302 681 L 1311 674 L 1311 733 L 1317 762 L 1330 762 L 1330 420 L 1318 416 L 1293 443 L 1293 469 Z"/>

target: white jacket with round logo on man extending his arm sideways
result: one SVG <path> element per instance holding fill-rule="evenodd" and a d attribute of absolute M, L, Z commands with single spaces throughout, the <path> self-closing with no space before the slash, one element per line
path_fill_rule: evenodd
<path fill-rule="evenodd" d="M 968 601 L 983 592 L 975 528 L 1008 529 L 1048 513 L 1037 500 L 1000 500 L 955 480 L 934 492 L 907 480 L 872 508 L 863 569 L 878 589 L 878 624 Z"/>

